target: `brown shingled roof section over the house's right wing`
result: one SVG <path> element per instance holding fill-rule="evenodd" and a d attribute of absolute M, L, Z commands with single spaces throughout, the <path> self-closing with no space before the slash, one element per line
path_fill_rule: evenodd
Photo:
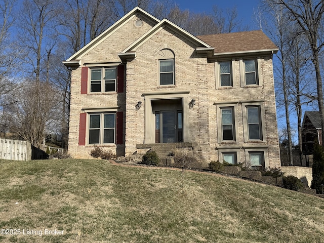
<path fill-rule="evenodd" d="M 197 36 L 215 48 L 214 54 L 230 53 L 250 53 L 258 51 L 274 51 L 278 48 L 273 44 L 262 30 L 225 33 L 225 34 L 207 34 Z"/>

